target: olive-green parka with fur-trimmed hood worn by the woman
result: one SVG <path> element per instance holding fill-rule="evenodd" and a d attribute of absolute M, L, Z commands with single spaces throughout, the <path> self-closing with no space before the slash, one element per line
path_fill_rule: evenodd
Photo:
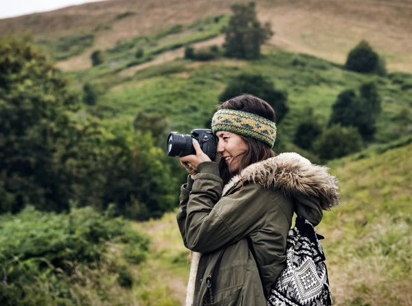
<path fill-rule="evenodd" d="M 177 213 L 183 243 L 193 251 L 186 306 L 266 305 L 286 266 L 293 213 L 319 224 L 322 209 L 339 204 L 336 178 L 296 153 L 249 165 L 225 186 L 217 163 L 197 170 L 181 187 Z"/>

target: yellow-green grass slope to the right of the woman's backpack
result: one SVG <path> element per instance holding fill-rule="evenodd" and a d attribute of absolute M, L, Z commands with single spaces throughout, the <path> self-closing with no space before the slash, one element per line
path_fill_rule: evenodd
<path fill-rule="evenodd" d="M 319 226 L 332 290 L 344 305 L 408 305 L 411 301 L 412 144 L 367 150 L 365 158 L 343 158 L 332 173 L 341 206 Z M 358 155 L 358 154 L 356 154 Z M 343 299 L 343 300 L 341 300 Z"/>

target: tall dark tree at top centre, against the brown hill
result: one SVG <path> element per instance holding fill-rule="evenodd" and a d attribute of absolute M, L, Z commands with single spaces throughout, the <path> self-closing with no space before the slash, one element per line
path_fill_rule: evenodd
<path fill-rule="evenodd" d="M 225 33 L 225 56 L 230 58 L 260 58 L 260 46 L 273 35 L 271 24 L 260 25 L 256 17 L 255 3 L 235 4 L 233 16 Z"/>

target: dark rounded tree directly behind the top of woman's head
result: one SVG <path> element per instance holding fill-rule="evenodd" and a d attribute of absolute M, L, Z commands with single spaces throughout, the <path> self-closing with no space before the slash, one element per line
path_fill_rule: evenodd
<path fill-rule="evenodd" d="M 276 123 L 280 123 L 289 111 L 286 104 L 288 99 L 287 93 L 276 90 L 273 82 L 266 80 L 266 78 L 259 74 L 243 73 L 238 75 L 227 84 L 225 91 L 220 94 L 219 100 L 226 101 L 242 93 L 255 95 L 271 104 L 275 110 Z"/>

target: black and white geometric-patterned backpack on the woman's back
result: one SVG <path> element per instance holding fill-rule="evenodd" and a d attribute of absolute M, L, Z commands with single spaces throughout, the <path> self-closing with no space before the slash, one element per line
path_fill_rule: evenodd
<path fill-rule="evenodd" d="M 323 238 L 308 220 L 296 218 L 286 240 L 286 268 L 266 297 L 268 306 L 332 305 L 325 255 L 319 242 Z M 248 242 L 255 257 L 250 238 Z"/>

